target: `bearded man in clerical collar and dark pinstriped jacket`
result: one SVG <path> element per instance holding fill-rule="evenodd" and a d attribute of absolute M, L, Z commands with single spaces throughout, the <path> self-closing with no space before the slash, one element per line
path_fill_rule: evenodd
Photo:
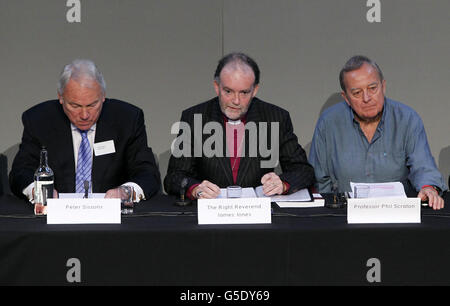
<path fill-rule="evenodd" d="M 215 198 L 227 186 L 262 185 L 271 196 L 314 183 L 314 169 L 298 144 L 289 113 L 255 97 L 259 74 L 256 62 L 242 53 L 219 61 L 217 97 L 182 113 L 180 129 L 189 132 L 180 131 L 174 142 L 164 179 L 167 193 L 186 190 L 191 199 Z M 213 130 L 217 133 L 211 136 Z M 280 176 L 274 173 L 278 162 Z"/>

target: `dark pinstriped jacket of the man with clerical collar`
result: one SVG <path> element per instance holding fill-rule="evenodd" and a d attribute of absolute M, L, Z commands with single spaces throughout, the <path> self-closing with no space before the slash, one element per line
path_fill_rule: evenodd
<path fill-rule="evenodd" d="M 202 127 L 208 122 L 218 122 L 223 128 L 223 148 L 224 157 L 170 157 L 167 175 L 164 179 L 164 188 L 169 194 L 180 194 L 181 182 L 187 178 L 186 190 L 203 180 L 208 180 L 221 188 L 235 185 L 230 165 L 229 157 L 226 157 L 226 135 L 225 123 L 222 111 L 220 110 L 218 98 L 193 106 L 183 111 L 181 121 L 189 124 L 191 129 L 191 153 L 194 154 L 194 114 L 202 115 Z M 271 123 L 279 123 L 279 162 L 283 173 L 280 178 L 289 183 L 289 192 L 298 191 L 301 188 L 309 187 L 314 183 L 314 169 L 308 163 L 305 151 L 298 144 L 297 136 L 294 134 L 289 113 L 273 104 L 263 102 L 254 98 L 246 116 L 246 124 L 254 122 L 259 127 L 260 122 L 267 122 L 267 147 L 271 148 Z M 183 133 L 180 130 L 179 136 Z M 259 139 L 258 128 L 258 139 Z M 202 136 L 202 145 L 205 140 L 211 137 L 210 134 Z M 198 139 L 197 139 L 198 140 Z M 253 141 L 254 143 L 254 141 Z M 259 141 L 258 141 L 259 144 Z M 180 146 L 183 148 L 183 146 Z M 261 178 L 264 174 L 274 171 L 274 168 L 261 168 L 263 158 L 258 150 L 256 157 L 250 157 L 248 134 L 245 137 L 245 157 L 241 157 L 236 184 L 241 187 L 257 187 L 261 185 Z M 263 154 L 264 155 L 264 154 Z"/>

